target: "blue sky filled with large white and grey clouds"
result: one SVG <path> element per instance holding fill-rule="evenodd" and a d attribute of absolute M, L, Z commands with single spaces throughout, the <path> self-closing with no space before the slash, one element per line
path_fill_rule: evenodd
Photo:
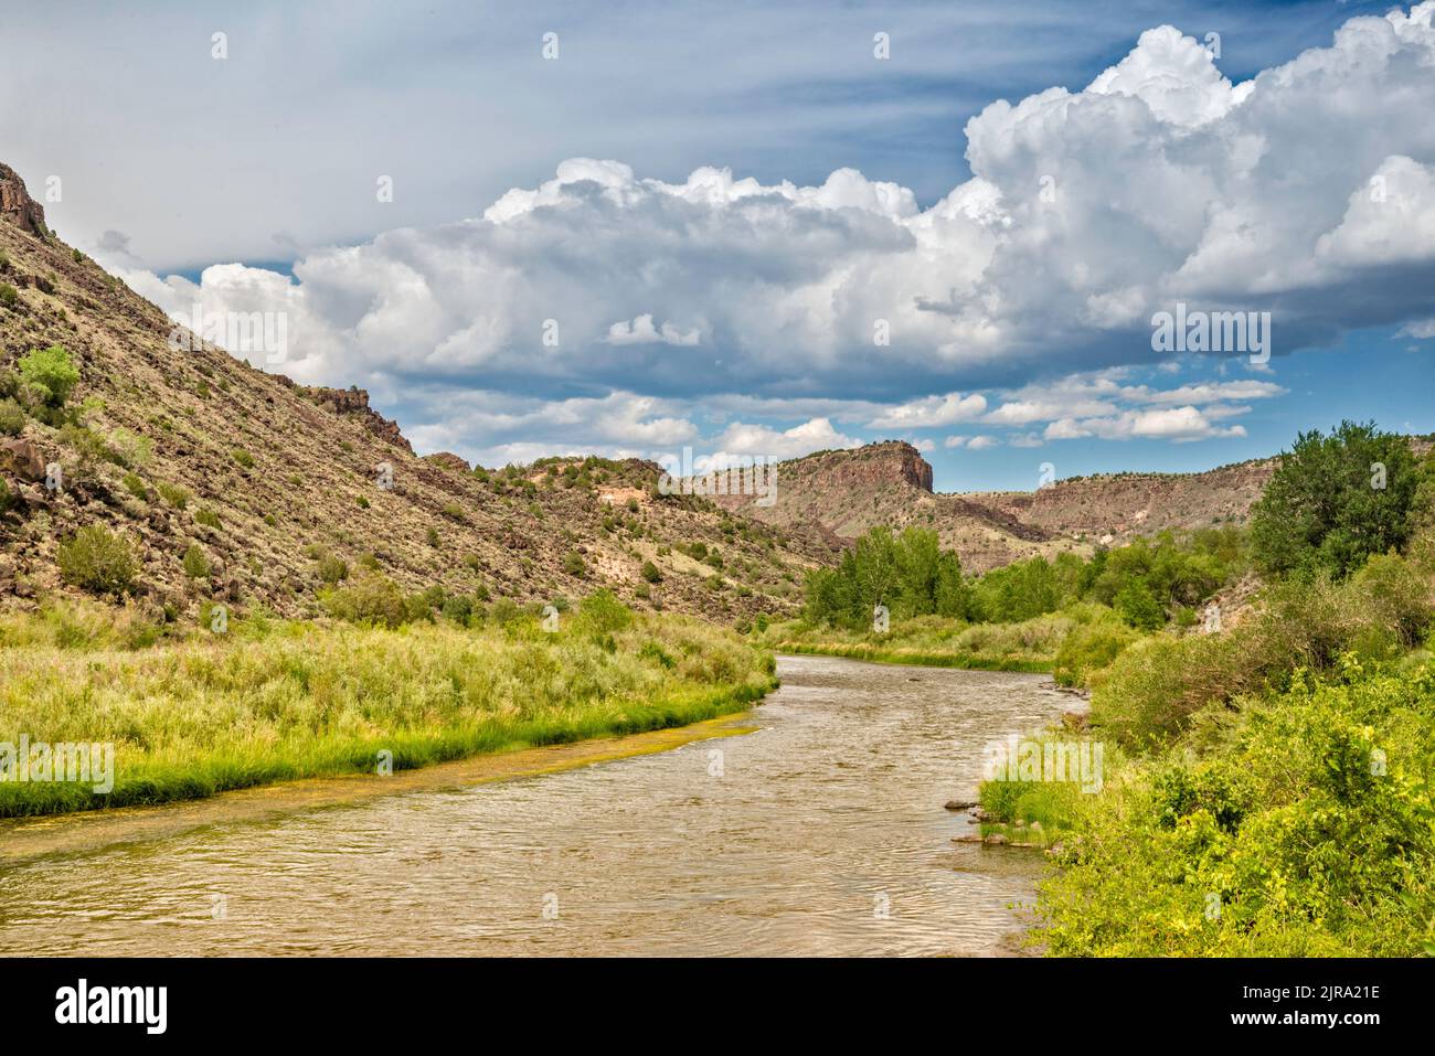
<path fill-rule="evenodd" d="M 1386 10 L 26 7 L 0 158 L 166 310 L 284 313 L 235 352 L 419 449 L 901 436 L 940 489 L 1030 488 L 1435 430 L 1435 30 Z M 1177 301 L 1273 313 L 1274 354 L 1157 354 Z"/>

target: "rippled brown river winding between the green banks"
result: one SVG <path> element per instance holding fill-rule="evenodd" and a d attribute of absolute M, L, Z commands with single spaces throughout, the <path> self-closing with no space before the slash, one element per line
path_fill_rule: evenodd
<path fill-rule="evenodd" d="M 1043 859 L 953 844 L 969 822 L 943 803 L 976 788 L 987 740 L 1068 699 L 1033 674 L 778 670 L 738 736 L 23 859 L 0 868 L 0 953 L 1010 948 Z"/>

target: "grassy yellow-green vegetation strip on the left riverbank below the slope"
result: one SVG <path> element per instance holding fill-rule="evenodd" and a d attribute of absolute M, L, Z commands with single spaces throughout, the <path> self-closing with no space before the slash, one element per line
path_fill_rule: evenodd
<path fill-rule="evenodd" d="M 751 706 L 773 670 L 732 631 L 606 593 L 555 631 L 508 613 L 476 627 L 253 617 L 162 637 L 129 610 L 52 607 L 0 620 L 0 740 L 113 743 L 115 786 L 0 781 L 0 816 L 679 726 Z"/>

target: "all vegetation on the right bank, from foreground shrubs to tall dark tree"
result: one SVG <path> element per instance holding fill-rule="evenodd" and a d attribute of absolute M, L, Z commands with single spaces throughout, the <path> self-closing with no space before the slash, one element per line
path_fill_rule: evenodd
<path fill-rule="evenodd" d="M 1254 613 L 1096 682 L 1106 768 L 1055 818 L 1050 953 L 1435 956 L 1435 466 L 1382 488 L 1379 440 L 1303 436 L 1263 499 Z"/>

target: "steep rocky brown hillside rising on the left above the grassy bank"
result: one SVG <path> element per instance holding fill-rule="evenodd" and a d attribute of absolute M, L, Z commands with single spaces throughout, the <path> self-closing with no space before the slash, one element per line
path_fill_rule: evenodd
<path fill-rule="evenodd" d="M 791 611 L 804 570 L 832 560 L 822 532 L 660 495 L 653 463 L 418 458 L 366 393 L 179 350 L 172 330 L 0 166 L 0 605 L 85 590 L 59 557 L 90 525 L 135 561 L 116 597 L 171 618 L 212 600 L 313 614 L 327 587 L 382 574 L 517 603 L 611 587 L 742 620 Z M 22 369 L 53 346 L 79 369 L 60 406 Z"/>

